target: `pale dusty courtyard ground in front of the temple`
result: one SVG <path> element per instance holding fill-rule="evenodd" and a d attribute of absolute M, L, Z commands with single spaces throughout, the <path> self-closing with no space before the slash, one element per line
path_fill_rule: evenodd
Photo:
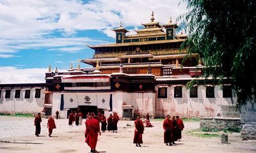
<path fill-rule="evenodd" d="M 42 119 L 40 137 L 35 136 L 33 118 L 0 116 L 0 152 L 89 152 L 84 143 L 85 126 L 68 126 L 67 119 L 56 120 L 49 138 L 46 128 L 47 119 Z M 84 122 L 85 120 L 83 120 Z M 127 126 L 127 124 L 132 126 Z M 220 138 L 200 138 L 191 135 L 191 130 L 199 128 L 199 122 L 184 122 L 182 141 L 172 147 L 163 143 L 163 121 L 152 120 L 154 128 L 145 128 L 142 147 L 132 143 L 133 121 L 120 120 L 118 133 L 102 133 L 97 150 L 100 152 L 256 152 L 256 141 L 241 141 L 239 133 L 228 134 L 230 144 L 220 143 Z"/>

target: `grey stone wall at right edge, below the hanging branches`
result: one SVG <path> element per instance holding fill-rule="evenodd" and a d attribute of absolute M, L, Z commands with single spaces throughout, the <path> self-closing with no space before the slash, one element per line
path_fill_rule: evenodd
<path fill-rule="evenodd" d="M 243 140 L 256 140 L 256 106 L 250 101 L 241 109 L 241 124 Z"/>

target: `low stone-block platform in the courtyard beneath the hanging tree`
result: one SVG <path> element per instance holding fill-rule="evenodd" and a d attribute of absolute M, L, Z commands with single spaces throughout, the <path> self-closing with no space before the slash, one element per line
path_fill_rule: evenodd
<path fill-rule="evenodd" d="M 200 118 L 200 129 L 206 129 L 209 131 L 241 129 L 241 119 L 234 117 L 202 117 Z"/>

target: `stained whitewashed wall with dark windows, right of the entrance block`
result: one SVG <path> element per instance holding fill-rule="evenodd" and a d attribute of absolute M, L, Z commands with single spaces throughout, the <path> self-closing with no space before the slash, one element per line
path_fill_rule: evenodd
<path fill-rule="evenodd" d="M 167 88 L 167 98 L 156 98 L 154 116 L 164 117 L 169 114 L 182 117 L 214 117 L 217 113 L 221 113 L 222 105 L 233 105 L 231 98 L 223 98 L 220 86 L 214 87 L 214 98 L 206 98 L 205 92 L 206 87 L 200 85 L 198 86 L 198 98 L 189 98 L 189 90 L 182 86 L 182 98 L 174 98 L 174 87 L 170 86 Z"/>

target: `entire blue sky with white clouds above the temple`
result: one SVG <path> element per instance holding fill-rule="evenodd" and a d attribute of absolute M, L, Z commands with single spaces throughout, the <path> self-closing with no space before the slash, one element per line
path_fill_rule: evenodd
<path fill-rule="evenodd" d="M 92 58 L 87 45 L 115 43 L 114 29 L 134 34 L 142 23 L 166 24 L 186 13 L 180 0 L 0 0 L 0 83 L 45 82 L 49 64 L 67 71 L 70 62 Z M 179 25 L 179 23 L 178 23 Z M 81 63 L 81 68 L 90 67 Z"/>

